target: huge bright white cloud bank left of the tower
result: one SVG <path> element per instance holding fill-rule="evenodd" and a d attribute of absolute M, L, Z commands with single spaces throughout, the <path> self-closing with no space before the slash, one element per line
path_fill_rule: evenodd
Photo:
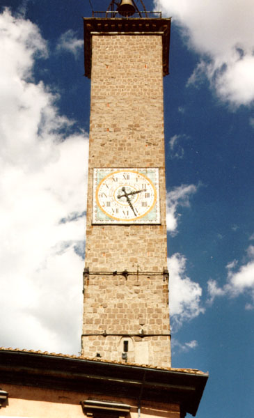
<path fill-rule="evenodd" d="M 4 10 L 0 29 L 0 346 L 77 353 L 88 138 L 33 81 L 38 27 Z"/>

